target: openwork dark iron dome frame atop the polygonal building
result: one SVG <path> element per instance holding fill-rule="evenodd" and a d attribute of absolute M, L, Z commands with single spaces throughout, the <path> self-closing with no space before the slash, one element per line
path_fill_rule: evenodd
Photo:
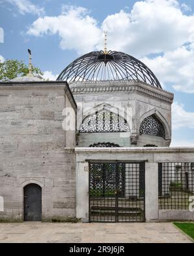
<path fill-rule="evenodd" d="M 57 80 L 69 83 L 134 80 L 162 89 L 149 67 L 129 54 L 117 51 L 84 54 L 63 69 Z"/>

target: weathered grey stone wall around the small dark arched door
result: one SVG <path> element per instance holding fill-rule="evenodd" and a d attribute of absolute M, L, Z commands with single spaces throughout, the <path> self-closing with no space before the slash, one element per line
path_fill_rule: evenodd
<path fill-rule="evenodd" d="M 29 183 L 42 187 L 43 220 L 75 216 L 75 131 L 65 136 L 62 111 L 76 105 L 67 84 L 1 83 L 0 99 L 0 220 L 23 220 Z"/>

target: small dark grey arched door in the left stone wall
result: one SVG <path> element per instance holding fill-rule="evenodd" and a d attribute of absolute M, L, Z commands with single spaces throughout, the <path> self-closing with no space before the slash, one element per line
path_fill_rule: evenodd
<path fill-rule="evenodd" d="M 29 184 L 24 188 L 24 220 L 41 221 L 42 189 L 37 184 Z"/>

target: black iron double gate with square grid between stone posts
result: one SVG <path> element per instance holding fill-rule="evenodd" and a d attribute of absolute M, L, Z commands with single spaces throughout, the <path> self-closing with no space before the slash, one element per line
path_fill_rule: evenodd
<path fill-rule="evenodd" d="M 145 221 L 144 162 L 89 162 L 89 221 Z"/>

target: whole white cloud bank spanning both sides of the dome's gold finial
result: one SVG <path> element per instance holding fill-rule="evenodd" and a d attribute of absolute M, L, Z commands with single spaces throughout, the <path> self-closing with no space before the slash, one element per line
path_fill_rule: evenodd
<path fill-rule="evenodd" d="M 174 51 L 194 41 L 194 16 L 186 16 L 176 0 L 137 1 L 131 12 L 125 8 L 107 16 L 102 24 L 82 7 L 65 6 L 59 16 L 39 18 L 28 34 L 59 34 L 62 49 L 79 53 L 102 49 L 103 30 L 108 31 L 108 48 L 136 57 Z"/>

